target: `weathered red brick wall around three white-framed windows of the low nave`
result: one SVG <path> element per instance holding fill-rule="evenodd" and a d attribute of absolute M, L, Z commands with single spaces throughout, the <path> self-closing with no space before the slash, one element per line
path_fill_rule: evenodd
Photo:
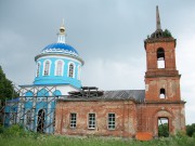
<path fill-rule="evenodd" d="M 67 135 L 102 135 L 131 137 L 136 131 L 136 111 L 132 101 L 99 101 L 99 102 L 63 102 L 56 105 L 55 132 Z M 69 114 L 77 114 L 77 128 L 69 127 Z M 93 112 L 96 117 L 96 128 L 88 129 L 88 114 Z M 107 115 L 116 115 L 116 129 L 107 129 Z"/>

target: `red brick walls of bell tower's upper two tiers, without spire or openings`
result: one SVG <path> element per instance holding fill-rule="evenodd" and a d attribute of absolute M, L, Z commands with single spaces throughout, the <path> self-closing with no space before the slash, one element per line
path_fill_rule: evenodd
<path fill-rule="evenodd" d="M 165 51 L 165 68 L 157 68 L 157 50 Z M 176 40 L 156 40 L 145 43 L 147 70 L 145 72 L 145 101 L 180 102 L 180 75 L 176 67 Z M 165 89 L 166 98 L 159 98 L 160 89 Z"/>

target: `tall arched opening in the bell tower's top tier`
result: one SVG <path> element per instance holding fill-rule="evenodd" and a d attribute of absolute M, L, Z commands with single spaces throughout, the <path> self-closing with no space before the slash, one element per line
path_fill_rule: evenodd
<path fill-rule="evenodd" d="M 157 50 L 157 67 L 165 68 L 165 51 L 161 48 Z"/>

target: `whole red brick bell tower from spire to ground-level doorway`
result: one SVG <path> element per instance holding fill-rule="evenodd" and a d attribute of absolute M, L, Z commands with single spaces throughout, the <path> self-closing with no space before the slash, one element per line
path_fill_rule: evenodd
<path fill-rule="evenodd" d="M 147 66 L 145 101 L 136 105 L 138 135 L 161 136 L 158 128 L 162 123 L 168 125 L 165 129 L 168 135 L 185 131 L 185 102 L 180 95 L 181 76 L 176 66 L 176 44 L 171 34 L 161 29 L 156 6 L 156 30 L 144 41 Z"/>

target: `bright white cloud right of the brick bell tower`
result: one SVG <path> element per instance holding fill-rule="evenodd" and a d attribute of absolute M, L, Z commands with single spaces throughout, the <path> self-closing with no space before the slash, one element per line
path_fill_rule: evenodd
<path fill-rule="evenodd" d="M 186 101 L 186 123 L 193 123 L 195 119 L 195 36 L 187 34 L 178 39 L 177 63 L 181 76 L 181 96 Z"/>

